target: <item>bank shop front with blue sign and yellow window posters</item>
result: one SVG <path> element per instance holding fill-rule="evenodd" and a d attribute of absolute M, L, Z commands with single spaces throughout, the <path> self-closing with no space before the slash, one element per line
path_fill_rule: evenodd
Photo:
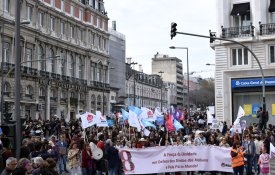
<path fill-rule="evenodd" d="M 269 122 L 275 123 L 275 77 L 265 78 L 266 110 Z M 247 125 L 258 123 L 257 111 L 263 104 L 262 78 L 231 79 L 232 121 L 235 121 L 239 106 L 245 111 L 242 120 Z"/>

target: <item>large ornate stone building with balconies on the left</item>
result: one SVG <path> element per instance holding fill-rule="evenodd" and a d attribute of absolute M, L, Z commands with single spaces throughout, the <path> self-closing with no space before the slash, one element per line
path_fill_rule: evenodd
<path fill-rule="evenodd" d="M 14 0 L 0 1 L 1 74 L 14 67 Z M 21 116 L 109 111 L 109 33 L 103 0 L 22 0 Z M 51 59 L 59 55 L 61 59 Z M 36 61 L 36 60 L 46 61 Z M 25 63 L 24 63 L 25 62 Z M 14 73 L 2 79 L 14 104 Z"/>

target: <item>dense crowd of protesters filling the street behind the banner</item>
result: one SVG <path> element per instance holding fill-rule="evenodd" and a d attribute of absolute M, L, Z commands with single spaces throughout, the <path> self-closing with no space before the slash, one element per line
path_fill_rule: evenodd
<path fill-rule="evenodd" d="M 113 116 L 114 117 L 114 116 Z M 264 156 L 269 153 L 269 144 L 275 144 L 275 127 L 253 123 L 242 133 L 223 123 L 221 130 L 209 129 L 206 113 L 196 112 L 189 119 L 182 120 L 183 129 L 167 132 L 165 125 L 150 130 L 149 136 L 137 132 L 126 124 L 119 125 L 114 117 L 112 127 L 90 127 L 83 132 L 81 121 L 52 117 L 51 121 L 27 120 L 22 133 L 23 140 L 19 159 L 11 149 L 5 135 L 1 140 L 1 175 L 33 174 L 123 174 L 119 148 L 145 148 L 164 145 L 215 145 L 233 147 L 232 158 L 239 154 L 245 157 L 247 174 L 268 171 Z M 90 149 L 93 142 L 102 150 L 102 158 L 95 159 Z M 241 149 L 241 150 L 240 150 Z M 246 151 L 245 151 L 246 150 Z M 229 155 L 230 156 L 230 155 Z M 260 166 L 259 166 L 260 165 Z M 234 167 L 233 167 L 234 168 Z M 205 174 L 206 172 L 198 172 Z M 210 172 L 211 174 L 226 174 Z M 180 172 L 175 173 L 180 174 Z M 188 172 L 194 174 L 194 172 Z"/>

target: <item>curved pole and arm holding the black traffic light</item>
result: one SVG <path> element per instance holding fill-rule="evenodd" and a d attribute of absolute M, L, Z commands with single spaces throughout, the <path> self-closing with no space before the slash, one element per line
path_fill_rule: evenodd
<path fill-rule="evenodd" d="M 263 112 L 266 112 L 266 103 L 265 103 L 265 79 L 264 79 L 264 71 L 263 71 L 263 68 L 262 68 L 262 65 L 258 59 L 258 57 L 255 55 L 254 52 L 252 52 L 251 49 L 249 49 L 247 46 L 245 46 L 244 44 L 238 42 L 238 41 L 235 41 L 235 40 L 232 40 L 232 39 L 227 39 L 227 38 L 218 38 L 216 36 L 205 36 L 205 35 L 198 35 L 198 34 L 193 34 L 193 33 L 185 33 L 185 32 L 175 32 L 175 34 L 182 34 L 182 35 L 189 35 L 189 36 L 196 36 L 196 37 L 201 37 L 201 38 L 210 38 L 212 40 L 221 40 L 221 41 L 229 41 L 229 42 L 232 42 L 232 43 L 235 43 L 235 44 L 238 44 L 238 45 L 241 45 L 242 47 L 244 47 L 245 49 L 247 49 L 252 55 L 253 57 L 255 58 L 259 68 L 260 68 L 260 72 L 261 72 L 261 76 L 262 76 L 262 102 L 263 102 Z"/>

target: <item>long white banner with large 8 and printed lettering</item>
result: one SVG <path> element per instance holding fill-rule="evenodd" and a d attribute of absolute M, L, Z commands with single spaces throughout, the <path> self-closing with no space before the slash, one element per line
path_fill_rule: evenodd
<path fill-rule="evenodd" d="M 230 148 L 217 146 L 161 146 L 120 149 L 125 174 L 178 171 L 232 172 Z"/>

